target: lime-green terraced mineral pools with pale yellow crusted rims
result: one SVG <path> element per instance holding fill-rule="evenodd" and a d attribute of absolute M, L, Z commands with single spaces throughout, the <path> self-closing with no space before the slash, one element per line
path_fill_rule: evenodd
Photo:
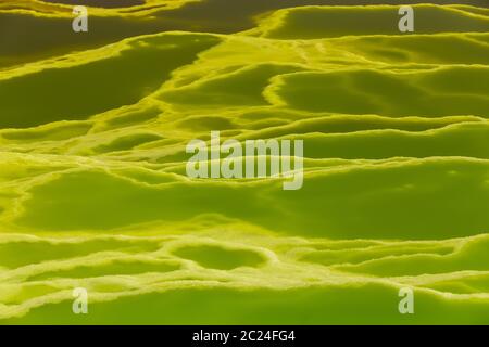
<path fill-rule="evenodd" d="M 397 5 L 288 8 L 217 34 L 164 31 L 185 3 L 153 0 L 93 8 L 71 47 L 70 7 L 7 2 L 13 27 L 67 27 L 0 44 L 0 324 L 489 324 L 487 9 L 415 5 L 401 34 Z M 189 179 L 214 130 L 303 140 L 303 188 Z"/>

